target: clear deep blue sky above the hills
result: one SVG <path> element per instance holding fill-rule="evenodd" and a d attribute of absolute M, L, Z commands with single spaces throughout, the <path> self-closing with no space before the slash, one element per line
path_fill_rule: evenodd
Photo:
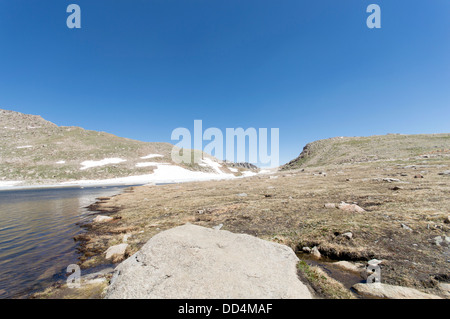
<path fill-rule="evenodd" d="M 143 141 L 276 127 L 282 163 L 322 138 L 450 132 L 450 1 L 0 0 L 0 108 Z"/>

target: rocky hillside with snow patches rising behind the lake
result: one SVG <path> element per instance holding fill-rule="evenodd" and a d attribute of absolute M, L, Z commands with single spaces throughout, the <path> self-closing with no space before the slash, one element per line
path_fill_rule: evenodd
<path fill-rule="evenodd" d="M 100 180 L 153 173 L 152 163 L 171 161 L 173 145 L 147 143 L 80 127 L 57 126 L 40 116 L 0 109 L 0 182 L 27 184 Z M 216 164 L 184 166 L 191 171 L 240 175 Z M 208 165 L 209 164 L 209 165 Z M 219 168 L 218 168 L 219 167 Z M 220 170 L 220 171 L 219 171 Z"/>

